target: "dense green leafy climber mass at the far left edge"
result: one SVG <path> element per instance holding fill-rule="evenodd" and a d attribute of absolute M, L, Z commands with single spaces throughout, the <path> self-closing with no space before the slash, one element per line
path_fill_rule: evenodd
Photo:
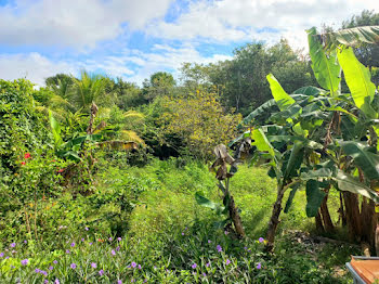
<path fill-rule="evenodd" d="M 51 149 L 45 118 L 36 112 L 32 85 L 0 80 L 0 189 L 12 189 L 25 153 Z"/>

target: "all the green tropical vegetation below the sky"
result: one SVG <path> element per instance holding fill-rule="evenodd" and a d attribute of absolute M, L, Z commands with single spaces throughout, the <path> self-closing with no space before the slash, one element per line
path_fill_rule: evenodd
<path fill-rule="evenodd" d="M 0 79 L 0 280 L 351 283 L 350 255 L 379 256 L 378 25 L 142 88 Z"/>

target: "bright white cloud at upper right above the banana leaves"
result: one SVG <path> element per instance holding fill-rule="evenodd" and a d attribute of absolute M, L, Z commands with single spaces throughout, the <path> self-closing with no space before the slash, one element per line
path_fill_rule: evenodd
<path fill-rule="evenodd" d="M 296 48 L 306 43 L 305 29 L 322 23 L 339 26 L 364 9 L 379 11 L 377 0 L 201 0 L 173 23 L 157 21 L 146 33 L 181 40 L 278 40 Z M 154 28 L 153 28 L 154 27 Z M 262 28 L 276 31 L 260 33 Z"/>

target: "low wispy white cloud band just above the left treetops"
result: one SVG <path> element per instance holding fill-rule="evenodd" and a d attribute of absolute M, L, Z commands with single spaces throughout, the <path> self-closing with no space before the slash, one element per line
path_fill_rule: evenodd
<path fill-rule="evenodd" d="M 156 51 L 159 51 L 157 53 Z M 144 79 L 156 72 L 173 72 L 178 77 L 178 69 L 183 62 L 211 63 L 230 60 L 232 56 L 213 54 L 201 56 L 192 46 L 181 48 L 169 46 L 155 46 L 152 52 L 126 49 L 120 55 L 94 57 L 80 61 L 53 61 L 37 52 L 22 54 L 0 54 L 0 78 L 13 80 L 26 78 L 38 86 L 44 86 L 44 79 L 57 73 L 78 76 L 80 69 L 89 72 L 102 70 L 110 77 L 121 77 L 128 81 L 142 85 Z M 130 63 L 138 65 L 136 70 L 131 70 Z"/>

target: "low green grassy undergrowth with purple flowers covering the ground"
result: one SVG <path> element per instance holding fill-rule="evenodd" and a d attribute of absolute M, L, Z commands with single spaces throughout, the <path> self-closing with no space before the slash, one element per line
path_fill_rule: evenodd
<path fill-rule="evenodd" d="M 49 230 L 39 242 L 22 229 L 1 232 L 2 283 L 349 283 L 343 264 L 353 247 L 306 246 L 290 233 L 314 227 L 304 214 L 303 192 L 283 216 L 275 254 L 263 253 L 275 199 L 266 169 L 243 165 L 232 181 L 247 232 L 237 241 L 195 202 L 197 191 L 218 198 L 206 165 L 116 163 L 99 171 L 92 195 L 65 192 L 45 201 Z M 329 206 L 334 214 L 332 198 Z"/>

